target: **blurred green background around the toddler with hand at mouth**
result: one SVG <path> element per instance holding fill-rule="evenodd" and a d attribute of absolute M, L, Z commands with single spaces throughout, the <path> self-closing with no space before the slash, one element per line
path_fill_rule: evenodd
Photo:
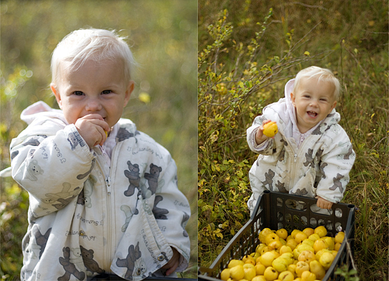
<path fill-rule="evenodd" d="M 26 124 L 19 115 L 49 90 L 51 52 L 80 28 L 115 29 L 129 38 L 139 64 L 124 118 L 172 153 L 179 188 L 192 217 L 187 226 L 192 258 L 183 277 L 197 275 L 197 0 L 1 1 L 0 170 L 10 166 L 9 144 Z M 28 195 L 12 178 L 0 178 L 1 280 L 17 280 Z"/>

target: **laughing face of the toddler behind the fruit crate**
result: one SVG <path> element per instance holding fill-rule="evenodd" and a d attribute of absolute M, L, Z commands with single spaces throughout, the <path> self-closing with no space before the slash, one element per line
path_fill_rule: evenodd
<path fill-rule="evenodd" d="M 326 118 L 336 106 L 335 86 L 326 81 L 302 78 L 295 93 L 290 93 L 297 115 L 297 127 L 304 134 Z"/>

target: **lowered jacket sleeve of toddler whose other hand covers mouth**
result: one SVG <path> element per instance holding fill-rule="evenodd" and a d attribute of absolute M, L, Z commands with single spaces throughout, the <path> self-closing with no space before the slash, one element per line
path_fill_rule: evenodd
<path fill-rule="evenodd" d="M 185 230 L 191 214 L 190 204 L 179 191 L 177 168 L 172 156 L 163 147 L 160 147 L 160 152 L 166 156 L 166 166 L 158 179 L 158 185 L 162 187 L 157 189 L 153 213 L 167 243 L 181 254 L 180 265 L 176 269 L 180 272 L 188 267 L 190 259 L 190 240 Z"/>

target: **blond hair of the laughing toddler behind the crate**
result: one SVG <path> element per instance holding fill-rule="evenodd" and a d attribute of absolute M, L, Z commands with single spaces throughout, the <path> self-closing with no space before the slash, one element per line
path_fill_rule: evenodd
<path fill-rule="evenodd" d="M 317 66 L 311 66 L 304 68 L 304 70 L 299 71 L 296 75 L 295 79 L 295 85 L 293 86 L 293 92 L 295 92 L 295 89 L 299 87 L 299 83 L 302 78 L 317 78 L 317 81 L 325 81 L 330 82 L 335 86 L 335 90 L 333 91 L 333 95 L 335 97 L 335 100 L 339 99 L 340 96 L 340 82 L 338 78 L 335 77 L 333 72 L 331 70 L 328 70 L 326 68 L 321 68 Z"/>

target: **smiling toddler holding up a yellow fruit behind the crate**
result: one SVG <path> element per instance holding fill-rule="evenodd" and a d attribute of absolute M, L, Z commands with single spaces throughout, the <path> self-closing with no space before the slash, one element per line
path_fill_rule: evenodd
<path fill-rule="evenodd" d="M 260 154 L 249 171 L 251 211 L 265 189 L 317 198 L 322 209 L 342 200 L 355 153 L 338 125 L 339 92 L 330 70 L 308 67 L 286 83 L 285 98 L 255 118 L 247 129 L 250 149 Z M 273 138 L 263 134 L 270 121 L 279 129 Z"/>

